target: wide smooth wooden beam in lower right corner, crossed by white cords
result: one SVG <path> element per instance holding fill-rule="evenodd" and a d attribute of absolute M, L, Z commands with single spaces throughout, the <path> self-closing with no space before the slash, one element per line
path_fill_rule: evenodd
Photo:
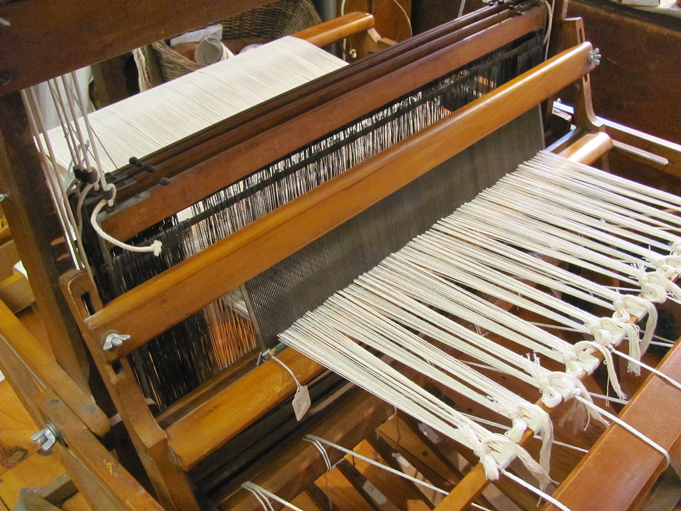
<path fill-rule="evenodd" d="M 677 382 L 681 381 L 680 345 L 677 342 L 657 367 Z M 681 441 L 679 409 L 681 391 L 650 375 L 624 406 L 620 419 L 671 450 Z M 554 497 L 571 511 L 629 510 L 650 491 L 665 463 L 658 451 L 612 424 L 560 484 Z M 555 510 L 548 504 L 541 511 Z"/>

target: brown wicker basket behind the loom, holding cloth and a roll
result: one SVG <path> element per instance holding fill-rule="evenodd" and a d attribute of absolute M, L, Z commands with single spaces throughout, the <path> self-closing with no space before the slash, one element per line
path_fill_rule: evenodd
<path fill-rule="evenodd" d="M 319 23 L 321 18 L 310 0 L 276 0 L 223 20 L 222 38 L 274 40 Z M 163 82 L 201 67 L 170 48 L 168 42 L 157 41 L 151 48 L 157 57 Z"/>

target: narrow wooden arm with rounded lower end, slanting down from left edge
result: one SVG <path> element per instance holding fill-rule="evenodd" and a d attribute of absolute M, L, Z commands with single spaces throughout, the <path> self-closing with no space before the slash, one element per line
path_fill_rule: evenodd
<path fill-rule="evenodd" d="M 10 309 L 0 302 L 0 335 L 12 346 L 31 371 L 49 388 L 57 393 L 96 435 L 104 436 L 110 429 L 109 418 L 95 404 L 95 400 L 67 375 L 47 350 L 16 318 Z"/>

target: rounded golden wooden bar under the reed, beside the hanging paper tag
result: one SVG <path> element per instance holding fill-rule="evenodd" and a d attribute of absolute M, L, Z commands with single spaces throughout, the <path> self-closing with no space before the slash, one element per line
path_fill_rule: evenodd
<path fill-rule="evenodd" d="M 325 370 L 322 365 L 291 348 L 286 348 L 276 358 L 294 372 L 302 385 Z M 289 397 L 294 390 L 296 382 L 274 360 L 268 360 L 242 376 L 165 430 L 178 465 L 189 470 Z"/>

